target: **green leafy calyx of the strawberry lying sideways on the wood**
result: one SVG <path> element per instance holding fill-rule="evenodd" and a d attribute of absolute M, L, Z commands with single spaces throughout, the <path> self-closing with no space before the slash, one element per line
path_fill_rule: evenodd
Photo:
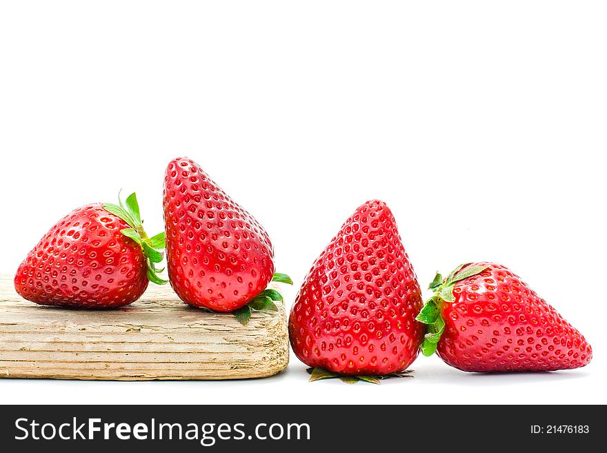
<path fill-rule="evenodd" d="M 118 204 L 106 203 L 103 205 L 103 209 L 120 217 L 130 226 L 130 228 L 124 228 L 120 232 L 141 246 L 143 256 L 146 257 L 148 280 L 157 285 L 168 283 L 168 280 L 161 279 L 158 276 L 159 272 L 163 272 L 164 269 L 156 268 L 156 265 L 161 263 L 164 257 L 161 250 L 165 248 L 165 233 L 161 232 L 155 236 L 148 237 L 146 231 L 143 230 L 143 221 L 139 213 L 139 203 L 137 203 L 135 192 L 130 194 L 124 203 L 122 203 L 119 193 Z"/>

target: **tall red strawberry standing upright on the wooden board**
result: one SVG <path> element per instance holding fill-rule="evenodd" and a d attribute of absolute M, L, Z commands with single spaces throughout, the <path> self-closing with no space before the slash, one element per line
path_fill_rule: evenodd
<path fill-rule="evenodd" d="M 188 305 L 236 312 L 276 310 L 282 296 L 266 290 L 274 274 L 274 251 L 266 230 L 194 161 L 177 158 L 166 169 L 163 192 L 166 255 L 172 288 Z M 248 305 L 246 305 L 248 304 Z"/>

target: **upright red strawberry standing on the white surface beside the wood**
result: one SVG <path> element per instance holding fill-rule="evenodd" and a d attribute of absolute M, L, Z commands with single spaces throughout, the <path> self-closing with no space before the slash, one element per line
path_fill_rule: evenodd
<path fill-rule="evenodd" d="M 361 205 L 320 254 L 289 318 L 295 354 L 346 376 L 385 376 L 410 365 L 424 339 L 415 272 L 383 201 Z M 312 379 L 315 374 L 312 374 Z"/>

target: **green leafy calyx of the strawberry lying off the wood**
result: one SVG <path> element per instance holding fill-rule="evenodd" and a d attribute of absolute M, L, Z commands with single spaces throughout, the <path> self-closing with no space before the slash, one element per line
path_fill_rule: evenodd
<path fill-rule="evenodd" d="M 468 279 L 471 276 L 480 274 L 489 266 L 470 266 L 472 263 L 464 263 L 453 270 L 445 279 L 437 272 L 434 280 L 428 285 L 428 289 L 434 294 L 416 316 L 416 320 L 426 324 L 426 334 L 424 342 L 421 343 L 421 353 L 425 356 L 431 356 L 435 353 L 437 345 L 445 330 L 445 321 L 441 316 L 444 303 L 455 302 L 453 288 L 455 283 Z"/>

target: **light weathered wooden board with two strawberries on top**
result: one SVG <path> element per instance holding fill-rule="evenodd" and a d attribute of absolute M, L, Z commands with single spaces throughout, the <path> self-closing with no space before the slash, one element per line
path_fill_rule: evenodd
<path fill-rule="evenodd" d="M 244 326 L 150 283 L 125 308 L 69 310 L 25 301 L 0 276 L 0 377 L 246 379 L 281 372 L 288 356 L 283 306 L 253 312 Z"/>

